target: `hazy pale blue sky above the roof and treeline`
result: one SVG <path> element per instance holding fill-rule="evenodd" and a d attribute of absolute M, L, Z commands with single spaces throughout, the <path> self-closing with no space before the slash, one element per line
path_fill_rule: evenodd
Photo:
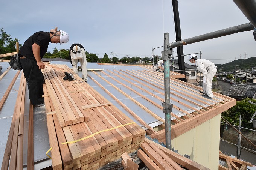
<path fill-rule="evenodd" d="M 249 22 L 232 0 L 179 0 L 178 7 L 182 39 Z M 175 40 L 171 0 L 10 0 L 1 2 L 0 23 L 20 44 L 34 32 L 58 26 L 69 33 L 70 40 L 62 45 L 50 43 L 48 51 L 80 43 L 98 57 L 105 53 L 120 59 L 151 57 L 152 48 L 163 45 L 163 33 L 169 33 L 170 42 Z M 183 50 L 184 54 L 202 51 L 202 58 L 224 64 L 255 57 L 255 45 L 250 31 L 185 45 Z M 154 55 L 161 56 L 161 51 L 155 49 Z"/>

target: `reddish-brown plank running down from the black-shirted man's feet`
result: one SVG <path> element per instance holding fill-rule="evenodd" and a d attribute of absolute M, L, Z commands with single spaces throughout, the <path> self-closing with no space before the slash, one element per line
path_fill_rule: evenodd
<path fill-rule="evenodd" d="M 28 170 L 34 169 L 33 108 L 34 107 L 30 102 L 29 103 L 29 131 L 28 131 L 28 137 L 27 137 L 27 169 Z"/>

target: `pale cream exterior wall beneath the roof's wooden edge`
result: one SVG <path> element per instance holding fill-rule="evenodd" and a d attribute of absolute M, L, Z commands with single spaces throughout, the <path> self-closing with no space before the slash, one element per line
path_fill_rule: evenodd
<path fill-rule="evenodd" d="M 181 155 L 189 155 L 190 159 L 209 169 L 218 170 L 220 116 L 204 122 L 196 128 L 171 140 L 171 148 Z"/>

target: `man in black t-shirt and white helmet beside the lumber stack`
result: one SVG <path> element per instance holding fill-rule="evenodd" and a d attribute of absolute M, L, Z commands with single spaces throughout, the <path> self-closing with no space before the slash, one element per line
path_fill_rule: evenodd
<path fill-rule="evenodd" d="M 68 33 L 55 29 L 50 32 L 39 31 L 30 36 L 19 50 L 20 63 L 29 89 L 29 99 L 34 106 L 44 107 L 43 73 L 45 68 L 41 59 L 46 54 L 49 43 L 67 43 Z"/>

